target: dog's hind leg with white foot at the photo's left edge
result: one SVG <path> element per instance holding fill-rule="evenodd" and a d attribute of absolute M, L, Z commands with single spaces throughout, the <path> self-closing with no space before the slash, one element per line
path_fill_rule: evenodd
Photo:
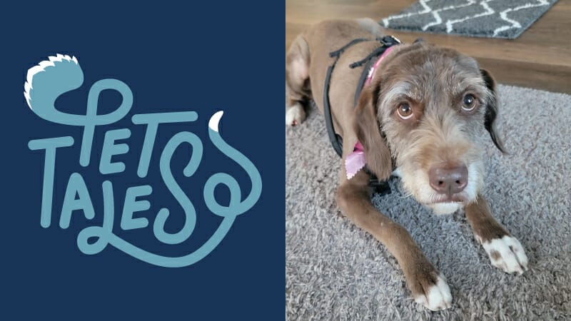
<path fill-rule="evenodd" d="M 285 124 L 305 121 L 303 104 L 309 96 L 309 46 L 303 36 L 295 38 L 285 54 Z"/>

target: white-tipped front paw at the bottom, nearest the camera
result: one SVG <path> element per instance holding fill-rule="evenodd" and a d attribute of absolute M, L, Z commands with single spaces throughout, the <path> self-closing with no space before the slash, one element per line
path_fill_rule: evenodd
<path fill-rule="evenodd" d="M 416 282 L 416 289 L 413 291 L 415 302 L 433 311 L 445 310 L 452 306 L 450 287 L 442 275 L 420 277 Z"/>

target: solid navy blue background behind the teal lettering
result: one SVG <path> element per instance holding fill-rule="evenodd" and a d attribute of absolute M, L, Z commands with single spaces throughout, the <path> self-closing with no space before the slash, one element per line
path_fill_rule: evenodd
<path fill-rule="evenodd" d="M 52 1 L 21 3 L 0 19 L 2 44 L 2 218 L 0 320 L 43 317 L 129 320 L 181 317 L 184 320 L 275 320 L 283 317 L 285 240 L 283 234 L 283 7 L 243 1 L 189 2 L 133 6 L 119 2 L 87 5 Z M 271 7 L 271 5 L 276 5 Z M 262 10 L 261 10 L 262 9 Z M 279 45 L 278 45 L 279 43 Z M 79 165 L 83 128 L 49 123 L 29 110 L 22 92 L 26 71 L 47 56 L 69 54 L 79 59 L 85 81 L 79 90 L 61 96 L 62 111 L 85 113 L 91 85 L 117 78 L 133 91 L 130 113 L 111 126 L 96 127 L 91 163 Z M 98 113 L 113 111 L 121 102 L 106 91 Z M 115 198 L 113 232 L 140 248 L 162 255 L 186 255 L 207 240 L 221 222 L 203 201 L 203 185 L 216 172 L 230 173 L 241 184 L 242 198 L 251 188 L 246 173 L 223 156 L 207 135 L 208 118 L 225 111 L 221 136 L 251 158 L 261 172 L 258 203 L 238 216 L 216 250 L 189 267 L 166 268 L 143 263 L 108 245 L 97 255 L 84 255 L 76 245 L 79 231 L 101 225 L 101 183 L 111 180 Z M 196 111 L 198 121 L 159 125 L 146 178 L 136 170 L 145 126 L 135 126 L 136 113 Z M 123 173 L 101 175 L 98 163 L 106 131 L 130 128 Z M 196 229 L 180 245 L 163 245 L 152 233 L 156 213 L 171 210 L 166 230 L 183 225 L 183 209 L 168 193 L 158 172 L 160 153 L 171 136 L 191 131 L 201 137 L 204 156 L 191 178 L 182 169 L 192 152 L 176 151 L 171 168 L 198 213 Z M 51 226 L 41 228 L 40 210 L 44 152 L 29 151 L 31 139 L 73 136 L 71 148 L 59 148 Z M 69 175 L 84 177 L 96 218 L 75 211 L 70 228 L 59 228 L 59 216 Z M 121 213 L 126 188 L 149 184 L 151 209 L 136 213 L 149 226 L 123 231 Z M 216 190 L 219 203 L 228 190 Z"/>

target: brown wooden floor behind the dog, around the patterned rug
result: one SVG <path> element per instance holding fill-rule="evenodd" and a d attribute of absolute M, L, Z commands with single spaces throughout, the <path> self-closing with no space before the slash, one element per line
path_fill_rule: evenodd
<path fill-rule="evenodd" d="M 396 14 L 414 0 L 286 0 L 285 49 L 303 29 L 324 19 Z M 403 42 L 418 37 L 472 56 L 498 82 L 571 93 L 571 0 L 560 0 L 515 40 L 390 31 Z"/>

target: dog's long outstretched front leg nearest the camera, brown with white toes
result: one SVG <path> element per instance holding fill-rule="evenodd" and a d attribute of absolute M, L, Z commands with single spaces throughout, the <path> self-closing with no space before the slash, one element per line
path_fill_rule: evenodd
<path fill-rule="evenodd" d="M 405 228 L 376 210 L 370 202 L 368 181 L 369 176 L 363 170 L 350 180 L 343 180 L 335 195 L 338 206 L 355 225 L 372 234 L 395 255 L 416 302 L 430 310 L 450 307 L 452 295 L 445 278 L 428 262 Z"/>

